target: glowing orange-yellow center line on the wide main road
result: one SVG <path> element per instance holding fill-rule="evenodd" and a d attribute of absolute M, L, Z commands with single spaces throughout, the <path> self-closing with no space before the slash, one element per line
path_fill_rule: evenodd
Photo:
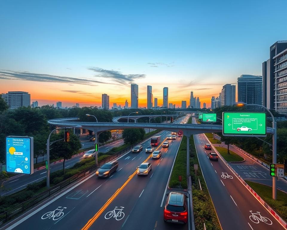
<path fill-rule="evenodd" d="M 167 140 L 167 138 L 165 138 L 163 142 L 161 142 L 161 144 L 155 149 L 155 151 L 161 147 L 162 143 L 164 143 L 165 140 Z M 148 161 L 151 156 L 152 153 L 144 160 L 143 163 L 146 163 L 146 161 Z M 97 220 L 97 218 L 103 213 L 103 211 L 105 211 L 106 208 L 113 202 L 113 200 L 117 197 L 121 190 L 123 190 L 123 188 L 129 183 L 129 181 L 131 181 L 131 179 L 137 174 L 137 171 L 138 170 L 135 170 L 135 172 L 129 176 L 126 182 L 120 188 L 118 188 L 118 190 L 108 199 L 108 201 L 103 205 L 103 207 L 100 208 L 100 210 L 97 211 L 97 213 L 86 223 L 82 230 L 87 230 L 91 227 L 91 225 Z"/>

